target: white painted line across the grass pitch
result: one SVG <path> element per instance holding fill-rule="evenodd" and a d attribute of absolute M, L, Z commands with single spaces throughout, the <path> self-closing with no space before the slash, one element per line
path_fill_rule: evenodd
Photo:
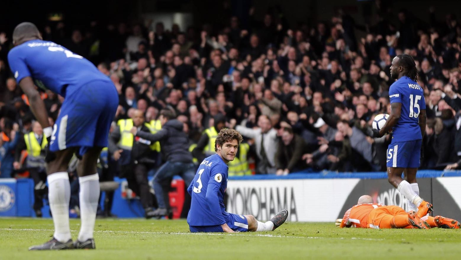
<path fill-rule="evenodd" d="M 54 231 L 45 229 L 0 229 L 9 231 Z M 71 230 L 77 232 L 77 230 Z M 95 230 L 95 233 L 128 233 L 128 234 L 154 234 L 154 235 L 192 235 L 192 236 L 236 236 L 236 234 L 225 234 L 225 233 L 186 233 L 186 232 L 151 232 L 151 231 L 114 231 L 114 230 Z M 256 234 L 255 236 L 262 237 L 276 237 L 276 238 L 307 238 L 307 239 L 348 239 L 345 237 L 320 237 L 320 236 L 282 236 L 282 235 L 271 235 L 271 234 Z M 355 240 L 371 240 L 371 241 L 382 241 L 384 239 L 375 238 L 360 238 L 351 237 L 349 239 Z"/>

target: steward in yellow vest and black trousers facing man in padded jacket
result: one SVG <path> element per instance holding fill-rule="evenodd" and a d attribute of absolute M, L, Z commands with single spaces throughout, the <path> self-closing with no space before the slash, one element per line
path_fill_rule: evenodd
<path fill-rule="evenodd" d="M 131 119 L 121 121 L 119 127 L 115 128 L 109 136 L 109 152 L 113 154 L 116 161 L 122 157 L 121 174 L 126 177 L 128 187 L 139 195 L 145 217 L 152 218 L 153 200 L 147 175 L 156 163 L 157 152 L 151 148 L 154 142 L 135 137 L 129 132 L 130 126 L 139 131 L 149 131 L 144 121 L 144 113 L 139 109 L 133 112 Z"/>

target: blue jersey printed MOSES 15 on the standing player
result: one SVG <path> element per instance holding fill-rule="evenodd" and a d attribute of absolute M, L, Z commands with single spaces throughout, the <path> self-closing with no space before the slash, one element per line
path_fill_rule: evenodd
<path fill-rule="evenodd" d="M 424 91 L 407 76 L 398 79 L 389 89 L 390 103 L 402 103 L 400 119 L 392 128 L 392 142 L 422 139 L 419 122 L 421 109 L 426 109 Z"/>

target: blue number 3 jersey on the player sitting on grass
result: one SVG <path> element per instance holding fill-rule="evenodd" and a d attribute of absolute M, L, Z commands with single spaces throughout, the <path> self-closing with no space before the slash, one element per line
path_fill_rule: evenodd
<path fill-rule="evenodd" d="M 212 226 L 227 222 L 224 192 L 227 187 L 228 169 L 227 164 L 217 154 L 202 161 L 188 188 L 192 197 L 187 216 L 189 225 Z"/>

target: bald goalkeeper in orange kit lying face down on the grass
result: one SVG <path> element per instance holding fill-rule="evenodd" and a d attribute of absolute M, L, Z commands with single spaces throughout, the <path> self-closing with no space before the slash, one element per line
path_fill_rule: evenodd
<path fill-rule="evenodd" d="M 425 216 L 419 218 L 414 212 L 405 212 L 398 206 L 384 206 L 373 203 L 371 196 L 363 195 L 357 205 L 350 208 L 343 218 L 336 221 L 341 228 L 375 228 L 375 229 L 405 229 L 405 228 L 443 228 L 459 229 L 460 223 L 455 219 L 442 216 Z"/>

